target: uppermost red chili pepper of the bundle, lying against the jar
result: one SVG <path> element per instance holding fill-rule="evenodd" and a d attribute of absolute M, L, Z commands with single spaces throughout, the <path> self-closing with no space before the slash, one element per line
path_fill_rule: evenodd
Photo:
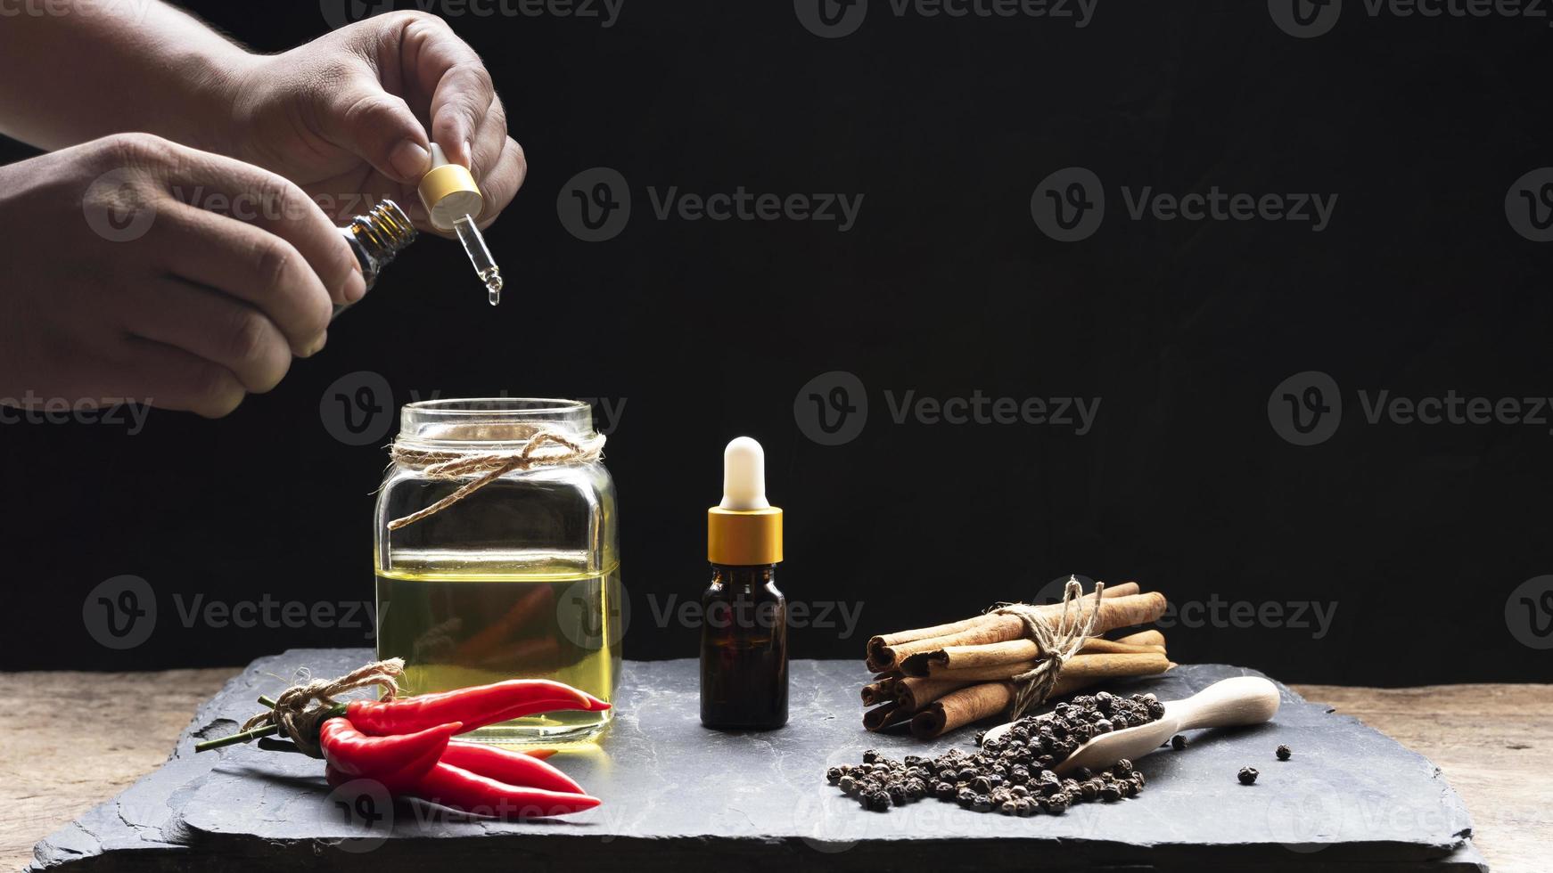
<path fill-rule="evenodd" d="M 362 733 L 390 737 L 426 730 L 449 721 L 461 721 L 467 732 L 486 724 L 562 709 L 599 712 L 609 709 L 609 704 L 572 685 L 548 679 L 508 679 L 438 695 L 351 701 L 345 712 Z"/>

